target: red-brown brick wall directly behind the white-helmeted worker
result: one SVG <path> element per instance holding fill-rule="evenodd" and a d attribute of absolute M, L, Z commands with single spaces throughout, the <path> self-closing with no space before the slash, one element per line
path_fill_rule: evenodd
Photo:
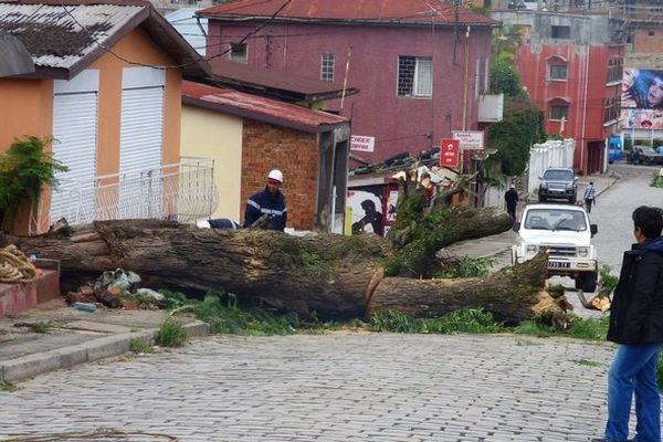
<path fill-rule="evenodd" d="M 318 179 L 317 134 L 244 119 L 242 138 L 242 222 L 249 197 L 265 188 L 270 170 L 281 169 L 287 227 L 312 230 Z"/>

